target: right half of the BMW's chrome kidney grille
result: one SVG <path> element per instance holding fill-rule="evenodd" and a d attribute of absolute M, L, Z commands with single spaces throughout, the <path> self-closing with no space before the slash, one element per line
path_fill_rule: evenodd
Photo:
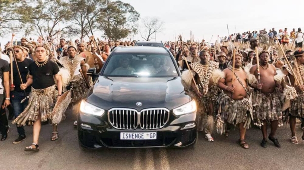
<path fill-rule="evenodd" d="M 160 129 L 169 120 L 169 111 L 165 109 L 148 109 L 140 112 L 140 127 L 144 130 Z"/>

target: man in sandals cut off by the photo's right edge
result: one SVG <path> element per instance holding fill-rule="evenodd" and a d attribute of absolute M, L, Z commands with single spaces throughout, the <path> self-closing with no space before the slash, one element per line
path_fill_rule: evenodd
<path fill-rule="evenodd" d="M 285 65 L 282 67 L 282 70 L 285 75 L 287 75 L 287 79 L 285 82 L 287 85 L 293 87 L 296 90 L 297 96 L 294 96 L 293 99 L 290 99 L 290 107 L 287 109 L 287 117 L 289 116 L 289 124 L 291 130 L 291 139 L 290 142 L 293 144 L 298 144 L 298 140 L 295 134 L 295 125 L 296 118 L 303 119 L 304 118 L 304 51 L 299 49 L 294 53 L 294 62 L 291 62 L 291 67 L 293 68 L 293 72 L 290 68 Z M 294 78 L 294 74 L 296 75 L 298 82 Z M 304 140 L 304 131 L 301 137 Z"/>

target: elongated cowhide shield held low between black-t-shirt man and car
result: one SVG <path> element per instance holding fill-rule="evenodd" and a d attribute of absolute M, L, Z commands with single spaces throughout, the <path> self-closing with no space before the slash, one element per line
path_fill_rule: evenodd
<path fill-rule="evenodd" d="M 65 118 L 65 110 L 70 104 L 71 98 L 71 90 L 66 91 L 62 94 L 62 96 L 57 100 L 53 111 L 52 111 L 52 123 L 54 125 L 58 125 Z"/>

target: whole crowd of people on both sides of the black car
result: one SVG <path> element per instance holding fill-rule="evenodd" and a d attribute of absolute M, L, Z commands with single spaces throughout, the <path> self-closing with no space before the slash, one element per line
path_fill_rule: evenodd
<path fill-rule="evenodd" d="M 223 39 L 214 46 L 182 42 L 181 37 L 178 42 L 165 43 L 170 45 L 182 72 L 186 93 L 197 101 L 199 130 L 209 142 L 214 141 L 212 133 L 229 136 L 232 126 L 237 126 L 239 144 L 248 149 L 246 129 L 258 126 L 262 130 L 262 147 L 268 146 L 268 139 L 281 147 L 276 131 L 289 123 L 290 141 L 299 143 L 295 121 L 304 118 L 304 50 L 299 48 L 302 43 L 299 37 L 303 34 L 300 29 L 290 33 L 290 39 L 296 41 L 296 50 L 286 49 L 279 56 L 283 48 L 281 44 L 274 45 L 272 38 L 284 45 L 282 38 L 288 33 L 282 33 L 279 40 L 280 33 L 274 33 L 274 29 L 271 32 L 269 42 L 263 46 L 259 41 L 263 39 L 261 34 L 267 34 L 265 30 L 260 34 L 248 32 L 241 41 L 239 34 L 233 34 L 226 42 Z M 236 45 L 236 40 L 248 46 Z M 94 84 L 86 74 L 88 69 L 100 70 L 114 48 L 135 43 L 96 41 L 93 36 L 88 42 L 60 38 L 58 45 L 53 45 L 52 39 L 43 43 L 41 39 L 35 42 L 23 37 L 20 41 L 15 45 L 9 42 L 1 52 L 0 128 L 4 141 L 10 129 L 8 119 L 13 120 L 19 135 L 13 143 L 18 144 L 26 139 L 23 126 L 33 126 L 33 142 L 25 151 L 39 151 L 42 122 L 52 124 L 51 140 L 58 140 L 58 125 L 65 119 L 65 110 L 72 108 L 77 113 L 81 97 Z M 88 62 L 91 59 L 93 64 Z M 59 111 L 58 105 L 64 109 Z M 304 140 L 304 133 L 301 139 Z"/>

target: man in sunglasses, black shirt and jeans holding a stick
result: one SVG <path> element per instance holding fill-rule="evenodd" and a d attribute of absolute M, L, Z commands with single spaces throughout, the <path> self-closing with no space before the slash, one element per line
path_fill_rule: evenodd
<path fill-rule="evenodd" d="M 14 52 L 14 62 L 13 62 L 13 79 L 14 86 L 10 88 L 12 94 L 12 105 L 14 107 L 14 116 L 17 118 L 20 113 L 25 109 L 28 104 L 28 99 L 21 102 L 26 98 L 31 90 L 29 85 L 26 89 L 21 90 L 20 86 L 27 81 L 28 67 L 34 61 L 25 58 L 26 52 L 23 46 L 15 45 L 13 46 Z M 17 126 L 18 138 L 13 142 L 13 144 L 19 144 L 26 139 L 23 126 Z"/>

